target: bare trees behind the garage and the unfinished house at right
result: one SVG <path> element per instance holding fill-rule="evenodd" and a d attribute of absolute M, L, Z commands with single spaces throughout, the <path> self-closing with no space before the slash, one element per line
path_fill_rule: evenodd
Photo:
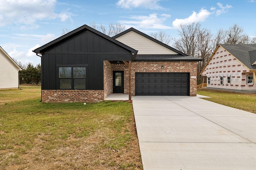
<path fill-rule="evenodd" d="M 192 23 L 190 25 L 180 25 L 178 29 L 178 38 L 168 38 L 163 43 L 172 41 L 172 47 L 185 53 L 189 56 L 203 59 L 197 63 L 197 84 L 202 83 L 202 76 L 200 72 L 204 68 L 208 59 L 219 44 L 256 44 L 256 35 L 249 37 L 244 33 L 244 29 L 237 24 L 229 27 L 229 29 L 218 29 L 214 35 L 210 29 L 202 28 L 199 23 Z M 152 37 L 161 41 L 164 39 L 161 35 L 163 32 L 155 33 Z"/>

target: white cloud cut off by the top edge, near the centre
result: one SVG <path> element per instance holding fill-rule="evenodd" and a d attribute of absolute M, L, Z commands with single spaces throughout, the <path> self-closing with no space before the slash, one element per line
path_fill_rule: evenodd
<path fill-rule="evenodd" d="M 161 0 L 119 0 L 117 6 L 126 9 L 146 8 L 150 10 L 166 10 L 166 8 L 158 4 L 159 1 Z"/>

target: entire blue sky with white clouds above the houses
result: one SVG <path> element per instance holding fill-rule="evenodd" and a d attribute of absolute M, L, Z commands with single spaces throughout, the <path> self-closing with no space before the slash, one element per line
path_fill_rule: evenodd
<path fill-rule="evenodd" d="M 120 23 L 150 35 L 179 37 L 179 25 L 198 22 L 215 34 L 234 24 L 256 35 L 256 0 L 0 0 L 0 46 L 23 64 L 40 64 L 32 50 L 95 22 Z"/>

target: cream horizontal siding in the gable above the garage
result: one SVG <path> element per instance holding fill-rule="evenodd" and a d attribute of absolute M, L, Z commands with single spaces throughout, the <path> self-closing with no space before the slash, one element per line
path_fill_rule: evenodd
<path fill-rule="evenodd" d="M 134 31 L 117 37 L 116 40 L 138 50 L 138 54 L 178 54 Z"/>

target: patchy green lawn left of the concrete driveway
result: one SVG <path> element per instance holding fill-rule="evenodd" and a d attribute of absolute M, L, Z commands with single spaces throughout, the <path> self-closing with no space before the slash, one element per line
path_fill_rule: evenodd
<path fill-rule="evenodd" d="M 132 104 L 42 103 L 40 87 L 21 88 L 0 91 L 2 169 L 142 169 L 139 153 L 137 162 L 112 160 L 123 152 L 135 158 Z"/>

